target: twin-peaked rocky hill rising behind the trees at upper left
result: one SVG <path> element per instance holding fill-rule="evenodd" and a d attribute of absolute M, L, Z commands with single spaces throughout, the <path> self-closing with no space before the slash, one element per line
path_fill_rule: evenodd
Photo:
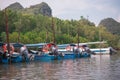
<path fill-rule="evenodd" d="M 42 2 L 37 5 L 32 5 L 29 8 L 23 8 L 23 6 L 16 2 L 7 7 L 11 10 L 21 11 L 23 13 L 30 13 L 30 14 L 42 14 L 44 16 L 52 16 L 52 9 L 49 7 L 49 5 L 45 2 Z"/>

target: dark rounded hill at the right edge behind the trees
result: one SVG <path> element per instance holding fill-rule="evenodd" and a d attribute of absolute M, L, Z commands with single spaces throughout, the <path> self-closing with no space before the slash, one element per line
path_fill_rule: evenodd
<path fill-rule="evenodd" d="M 109 32 L 120 35 L 120 23 L 115 21 L 113 18 L 101 20 L 99 26 L 100 25 L 106 27 Z"/>

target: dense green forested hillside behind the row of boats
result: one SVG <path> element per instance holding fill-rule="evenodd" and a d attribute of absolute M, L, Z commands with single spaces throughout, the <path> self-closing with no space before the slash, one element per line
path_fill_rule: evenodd
<path fill-rule="evenodd" d="M 28 11 L 28 10 L 26 10 Z M 4 10 L 0 11 L 0 38 L 6 42 Z M 52 12 L 52 11 L 51 11 Z M 57 44 L 105 40 L 104 46 L 119 47 L 119 35 L 112 34 L 105 27 L 96 27 L 84 17 L 79 20 L 61 20 L 43 14 L 31 14 L 7 9 L 10 42 L 41 43 L 53 41 L 53 26 Z M 53 19 L 53 21 L 52 21 Z"/>

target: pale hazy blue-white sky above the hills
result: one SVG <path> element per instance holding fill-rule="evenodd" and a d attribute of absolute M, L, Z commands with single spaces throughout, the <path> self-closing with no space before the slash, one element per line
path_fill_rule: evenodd
<path fill-rule="evenodd" d="M 0 9 L 19 2 L 23 7 L 46 2 L 53 16 L 60 19 L 80 19 L 84 16 L 95 24 L 104 18 L 114 18 L 120 22 L 120 0 L 0 0 Z"/>

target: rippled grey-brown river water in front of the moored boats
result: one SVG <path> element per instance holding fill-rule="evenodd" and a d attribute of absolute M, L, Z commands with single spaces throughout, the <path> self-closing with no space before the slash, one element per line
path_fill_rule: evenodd
<path fill-rule="evenodd" d="M 120 80 L 120 52 L 74 60 L 0 64 L 0 80 Z"/>

